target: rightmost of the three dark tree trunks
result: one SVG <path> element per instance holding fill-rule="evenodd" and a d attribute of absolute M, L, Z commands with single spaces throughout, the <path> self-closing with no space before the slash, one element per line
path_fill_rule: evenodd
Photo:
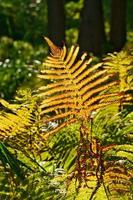
<path fill-rule="evenodd" d="M 110 42 L 119 51 L 126 42 L 126 0 L 111 1 Z"/>

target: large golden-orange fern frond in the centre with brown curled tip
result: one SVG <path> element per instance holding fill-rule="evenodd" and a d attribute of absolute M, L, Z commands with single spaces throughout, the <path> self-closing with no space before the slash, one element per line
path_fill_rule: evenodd
<path fill-rule="evenodd" d="M 101 92 L 118 84 L 112 80 L 114 74 L 108 74 L 105 69 L 101 70 L 102 63 L 89 66 L 92 59 L 86 59 L 86 53 L 77 59 L 78 46 L 72 46 L 67 52 L 65 46 L 55 47 L 48 38 L 46 41 L 52 54 L 44 62 L 45 69 L 39 77 L 52 83 L 40 88 L 42 116 L 55 113 L 56 117 L 49 117 L 48 121 L 63 118 L 65 120 L 65 117 L 71 118 L 72 112 L 74 119 L 82 120 L 86 116 L 88 120 L 93 110 L 119 102 L 117 93 L 100 95 Z M 110 99 L 113 97 L 114 101 Z M 100 102 L 101 100 L 104 103 Z"/>

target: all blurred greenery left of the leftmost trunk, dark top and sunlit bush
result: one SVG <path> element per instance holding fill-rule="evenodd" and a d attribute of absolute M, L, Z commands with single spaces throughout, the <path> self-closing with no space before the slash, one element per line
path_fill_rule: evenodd
<path fill-rule="evenodd" d="M 39 44 L 47 32 L 47 6 L 45 0 L 0 0 L 0 10 L 0 96 L 9 99 L 18 87 L 32 85 L 45 57 Z"/>

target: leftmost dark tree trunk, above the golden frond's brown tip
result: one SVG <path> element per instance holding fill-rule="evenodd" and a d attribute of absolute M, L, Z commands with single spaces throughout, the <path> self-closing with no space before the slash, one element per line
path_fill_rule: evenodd
<path fill-rule="evenodd" d="M 57 45 L 65 41 L 64 0 L 47 0 L 48 35 Z"/>

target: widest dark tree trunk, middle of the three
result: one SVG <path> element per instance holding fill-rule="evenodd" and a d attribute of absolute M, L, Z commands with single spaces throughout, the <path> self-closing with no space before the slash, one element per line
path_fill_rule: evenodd
<path fill-rule="evenodd" d="M 105 40 L 102 0 L 84 0 L 78 41 L 81 50 L 101 55 Z"/>

